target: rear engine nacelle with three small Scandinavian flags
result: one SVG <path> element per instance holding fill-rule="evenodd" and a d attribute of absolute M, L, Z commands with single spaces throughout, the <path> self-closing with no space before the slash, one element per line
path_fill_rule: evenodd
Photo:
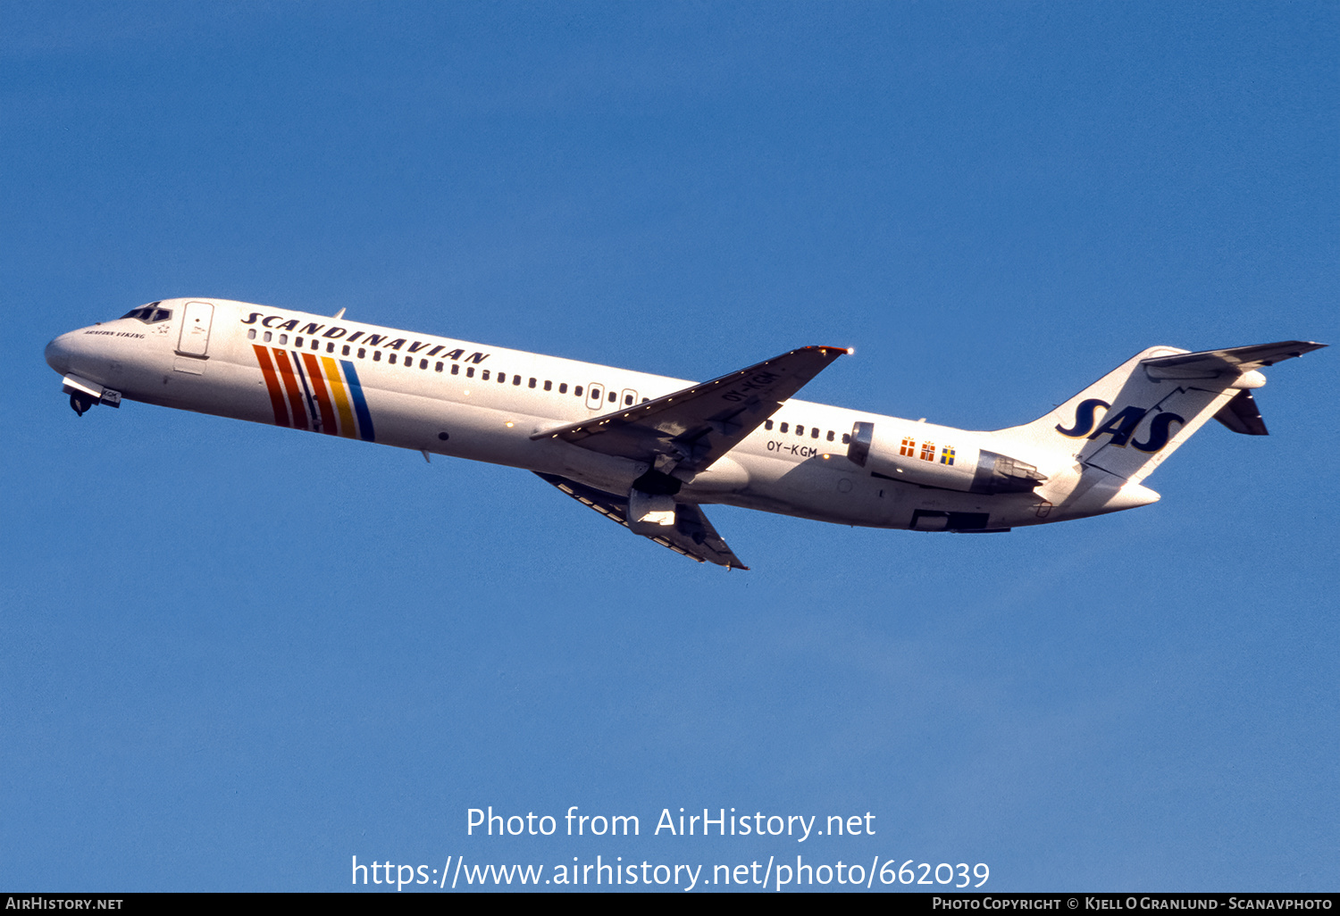
<path fill-rule="evenodd" d="M 925 423 L 909 423 L 900 430 L 856 423 L 847 458 L 894 481 L 965 493 L 1028 493 L 1047 481 L 1033 465 L 981 449 L 974 438 Z"/>

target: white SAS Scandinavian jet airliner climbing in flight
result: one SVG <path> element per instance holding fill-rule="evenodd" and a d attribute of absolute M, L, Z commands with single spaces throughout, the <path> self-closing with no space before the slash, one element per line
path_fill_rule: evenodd
<path fill-rule="evenodd" d="M 523 467 L 635 534 L 748 569 L 702 506 L 994 533 L 1134 509 L 1214 418 L 1266 435 L 1261 367 L 1325 344 L 1150 347 L 1044 416 L 970 431 L 793 395 L 847 347 L 687 382 L 224 299 L 170 299 L 63 333 L 80 416 L 135 400 Z"/>

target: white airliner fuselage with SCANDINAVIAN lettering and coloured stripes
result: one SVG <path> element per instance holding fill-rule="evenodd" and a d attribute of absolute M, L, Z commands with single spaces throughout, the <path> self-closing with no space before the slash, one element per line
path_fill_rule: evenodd
<path fill-rule="evenodd" d="M 48 363 L 130 400 L 524 467 L 616 494 L 647 465 L 532 435 L 693 384 L 264 305 L 159 305 L 170 319 L 125 317 L 62 335 Z M 996 447 L 992 433 L 791 399 L 675 498 L 878 528 L 914 528 L 926 513 L 988 513 L 986 528 L 1004 529 L 1122 508 L 1060 505 L 1076 473 L 1026 442 L 1010 442 L 1009 454 L 1045 473 L 1034 491 L 963 493 L 899 479 L 896 469 L 872 474 L 847 458 L 856 423 L 917 447 L 935 443 L 931 463 L 946 446 Z"/>

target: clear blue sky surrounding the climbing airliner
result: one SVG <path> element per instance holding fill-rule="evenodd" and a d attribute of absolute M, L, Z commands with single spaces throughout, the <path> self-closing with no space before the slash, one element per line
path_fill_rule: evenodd
<path fill-rule="evenodd" d="M 712 509 L 748 573 L 519 470 L 76 418 L 42 360 L 217 296 L 678 378 L 850 344 L 808 399 L 996 429 L 1151 344 L 1333 343 L 1337 25 L 0 3 L 0 884 L 803 854 L 1337 889 L 1333 351 L 1156 505 L 981 538 Z M 468 837 L 489 805 L 642 836 Z M 681 806 L 876 833 L 653 836 Z"/>

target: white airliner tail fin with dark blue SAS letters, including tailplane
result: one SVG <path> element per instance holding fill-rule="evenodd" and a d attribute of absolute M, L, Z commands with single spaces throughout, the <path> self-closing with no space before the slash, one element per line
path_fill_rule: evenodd
<path fill-rule="evenodd" d="M 1235 433 L 1265 435 L 1249 391 L 1265 384 L 1257 370 L 1321 347 L 1305 340 L 1197 354 L 1151 347 L 1045 416 L 996 435 L 1069 453 L 1139 483 L 1210 418 Z"/>

